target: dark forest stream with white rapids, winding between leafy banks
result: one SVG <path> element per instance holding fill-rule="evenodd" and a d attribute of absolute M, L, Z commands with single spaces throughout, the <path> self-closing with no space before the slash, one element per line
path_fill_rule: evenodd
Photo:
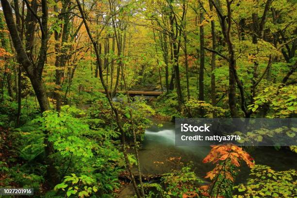
<path fill-rule="evenodd" d="M 180 169 L 183 165 L 192 164 L 197 176 L 203 179 L 206 172 L 214 168 L 212 164 L 202 163 L 203 158 L 209 153 L 210 147 L 176 147 L 175 124 L 161 122 L 155 118 L 151 120 L 153 125 L 146 129 L 142 149 L 139 150 L 143 174 L 168 173 Z M 157 127 L 161 123 L 163 126 Z M 290 150 L 281 149 L 278 151 L 272 147 L 247 148 L 246 150 L 254 158 L 256 164 L 268 165 L 277 171 L 295 169 L 297 165 L 296 153 Z M 136 172 L 136 167 L 134 167 L 134 171 Z M 247 165 L 242 163 L 235 184 L 245 183 L 249 173 L 250 170 Z M 204 180 L 208 181 L 207 179 Z M 129 185 L 123 189 L 119 198 L 131 198 L 133 192 L 132 185 Z"/>

